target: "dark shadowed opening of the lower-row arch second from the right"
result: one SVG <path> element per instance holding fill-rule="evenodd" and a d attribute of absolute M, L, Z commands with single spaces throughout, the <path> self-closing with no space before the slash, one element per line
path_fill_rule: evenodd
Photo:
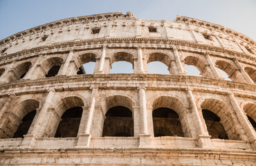
<path fill-rule="evenodd" d="M 221 119 L 219 118 L 219 116 L 207 109 L 203 109 L 202 113 L 208 133 L 210 136 L 212 136 L 211 138 L 228 140 L 228 135 L 223 127 L 223 124 L 221 124 L 220 122 Z"/>

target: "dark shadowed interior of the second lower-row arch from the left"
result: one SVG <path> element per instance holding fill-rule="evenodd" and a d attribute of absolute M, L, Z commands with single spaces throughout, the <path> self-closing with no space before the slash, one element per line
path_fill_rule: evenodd
<path fill-rule="evenodd" d="M 82 111 L 82 107 L 73 107 L 66 110 L 57 127 L 55 138 L 77 137 Z"/>

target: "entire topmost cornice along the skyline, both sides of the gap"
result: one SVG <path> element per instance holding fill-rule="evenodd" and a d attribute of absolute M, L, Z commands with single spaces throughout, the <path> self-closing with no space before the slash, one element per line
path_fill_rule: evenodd
<path fill-rule="evenodd" d="M 1 44 L 8 44 L 10 41 L 15 41 L 16 39 L 24 38 L 28 35 L 33 35 L 35 33 L 42 33 L 44 30 L 51 30 L 54 28 L 62 28 L 63 26 L 69 26 L 73 24 L 88 24 L 89 22 L 98 22 L 98 21 L 107 21 L 107 20 L 113 20 L 113 19 L 134 19 L 137 20 L 134 16 L 134 13 L 127 12 L 126 15 L 124 15 L 122 12 L 109 12 L 109 13 L 103 13 L 99 15 L 87 15 L 87 16 L 80 16 L 80 17 L 71 17 L 67 19 L 60 19 L 57 21 L 53 21 L 47 24 L 42 24 L 40 26 L 36 26 L 34 28 L 30 28 L 28 30 L 21 31 L 19 33 L 16 33 L 14 35 L 11 35 L 10 37 L 6 37 L 5 39 L 2 39 L 0 41 Z M 140 20 L 140 19 L 138 19 Z M 147 20 L 147 19 L 141 19 L 141 21 L 161 21 L 165 22 L 166 20 Z M 230 28 L 225 28 L 223 26 L 219 26 L 218 24 L 212 24 L 208 21 L 202 21 L 199 19 L 194 19 L 190 17 L 183 17 L 183 16 L 176 16 L 176 19 L 174 20 L 176 23 L 181 24 L 193 24 L 195 26 L 200 26 L 203 28 L 208 28 L 210 31 L 217 30 L 220 33 L 226 33 L 230 35 L 231 37 L 238 37 L 241 40 L 244 40 L 244 42 L 247 42 L 248 44 L 254 44 L 256 46 L 256 43 L 253 39 L 250 39 L 244 34 L 238 33 L 235 30 L 232 30 Z M 172 23 L 172 22 L 171 22 Z M 188 28 L 187 30 L 189 30 Z"/>

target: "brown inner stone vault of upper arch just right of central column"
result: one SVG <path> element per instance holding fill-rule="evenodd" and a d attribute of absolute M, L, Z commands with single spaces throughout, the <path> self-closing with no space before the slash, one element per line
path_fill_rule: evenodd
<path fill-rule="evenodd" d="M 162 62 L 167 66 L 169 73 L 174 73 L 174 71 L 172 71 L 172 58 L 170 55 L 165 53 L 150 53 L 147 59 L 147 64 L 150 62 Z"/>

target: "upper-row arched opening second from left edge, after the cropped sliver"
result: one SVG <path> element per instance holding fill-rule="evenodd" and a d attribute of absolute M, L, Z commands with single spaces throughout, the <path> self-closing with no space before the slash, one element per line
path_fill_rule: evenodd
<path fill-rule="evenodd" d="M 31 65 L 31 62 L 24 62 L 13 67 L 12 70 L 9 72 L 10 74 L 8 75 L 8 82 L 12 82 L 23 78 L 26 75 L 26 73 L 28 73 L 28 70 Z"/>

